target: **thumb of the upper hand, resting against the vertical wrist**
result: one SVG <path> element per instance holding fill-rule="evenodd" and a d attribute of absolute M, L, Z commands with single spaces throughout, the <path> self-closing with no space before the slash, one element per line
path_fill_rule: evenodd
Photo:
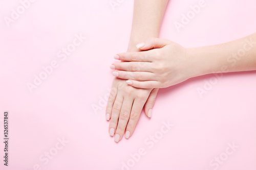
<path fill-rule="evenodd" d="M 151 50 L 153 48 L 162 48 L 170 43 L 172 43 L 172 41 L 167 39 L 150 38 L 145 42 L 139 43 L 136 47 L 140 50 Z"/>

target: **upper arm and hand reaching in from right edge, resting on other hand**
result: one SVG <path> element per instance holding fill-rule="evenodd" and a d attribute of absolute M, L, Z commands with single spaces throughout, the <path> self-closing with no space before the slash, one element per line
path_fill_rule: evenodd
<path fill-rule="evenodd" d="M 151 38 L 139 48 L 144 52 L 117 54 L 116 59 L 126 62 L 113 64 L 113 75 L 137 88 L 165 88 L 206 74 L 256 70 L 256 33 L 196 48 Z"/>

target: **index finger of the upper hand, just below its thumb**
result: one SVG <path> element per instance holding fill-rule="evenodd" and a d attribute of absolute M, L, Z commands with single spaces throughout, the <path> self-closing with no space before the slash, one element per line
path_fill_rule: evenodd
<path fill-rule="evenodd" d="M 153 61 L 153 57 L 148 52 L 119 53 L 114 58 L 122 61 Z"/>

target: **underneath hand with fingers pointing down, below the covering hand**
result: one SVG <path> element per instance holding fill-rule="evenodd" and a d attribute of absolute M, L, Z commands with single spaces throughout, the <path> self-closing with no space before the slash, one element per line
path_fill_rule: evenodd
<path fill-rule="evenodd" d="M 134 88 L 122 79 L 113 80 L 106 106 L 106 119 L 110 119 L 109 133 L 111 136 L 115 134 L 116 142 L 122 138 L 124 132 L 125 138 L 133 134 L 144 104 L 146 115 L 152 116 L 157 92 L 158 89 Z"/>

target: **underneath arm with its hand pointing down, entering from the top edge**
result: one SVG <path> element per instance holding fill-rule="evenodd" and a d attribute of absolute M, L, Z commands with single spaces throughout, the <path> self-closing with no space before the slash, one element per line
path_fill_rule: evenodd
<path fill-rule="evenodd" d="M 131 38 L 127 52 L 140 52 L 136 44 L 150 37 L 158 37 L 162 18 L 168 0 L 135 0 Z M 129 138 L 136 127 L 144 106 L 145 113 L 151 117 L 158 88 L 135 88 L 125 80 L 115 78 L 112 83 L 106 120 L 110 120 L 109 133 L 118 142 L 125 134 Z"/>

